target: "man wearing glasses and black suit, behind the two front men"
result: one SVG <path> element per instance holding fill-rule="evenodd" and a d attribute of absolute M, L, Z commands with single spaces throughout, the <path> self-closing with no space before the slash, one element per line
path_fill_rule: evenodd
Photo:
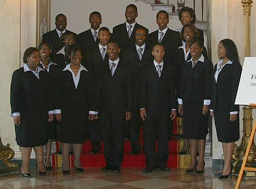
<path fill-rule="evenodd" d="M 141 69 L 144 65 L 150 64 L 152 58 L 151 49 L 145 43 L 147 31 L 144 28 L 137 28 L 135 31 L 135 44 L 123 52 L 123 62 L 129 66 L 131 82 L 133 85 L 133 116 L 129 121 L 131 140 L 131 154 L 138 154 L 141 150 L 139 134 L 141 129 L 141 117 L 139 116 L 139 91 L 141 85 Z"/>

